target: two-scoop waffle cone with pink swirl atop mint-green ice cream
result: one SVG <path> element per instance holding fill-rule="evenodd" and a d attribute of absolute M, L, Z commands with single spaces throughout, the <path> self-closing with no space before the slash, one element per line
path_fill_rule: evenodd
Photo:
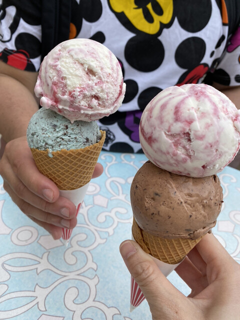
<path fill-rule="evenodd" d="M 43 112 L 31 117 L 27 142 L 39 171 L 60 190 L 90 181 L 105 139 L 96 120 L 120 107 L 125 87 L 118 59 L 97 41 L 69 39 L 44 57 L 34 87 Z"/>

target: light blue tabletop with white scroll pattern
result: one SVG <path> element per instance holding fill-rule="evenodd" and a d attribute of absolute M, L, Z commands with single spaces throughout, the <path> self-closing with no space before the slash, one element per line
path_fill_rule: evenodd
<path fill-rule="evenodd" d="M 131 238 L 129 189 L 143 154 L 102 151 L 103 174 L 92 179 L 66 247 L 11 201 L 0 177 L 0 319 L 148 320 L 147 302 L 129 312 L 130 274 L 119 244 Z M 224 194 L 213 233 L 240 261 L 240 171 L 218 174 Z M 173 271 L 168 279 L 185 295 Z"/>

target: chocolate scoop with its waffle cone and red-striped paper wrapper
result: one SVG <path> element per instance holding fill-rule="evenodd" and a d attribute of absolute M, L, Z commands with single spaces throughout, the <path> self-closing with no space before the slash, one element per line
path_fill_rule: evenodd
<path fill-rule="evenodd" d="M 222 189 L 216 175 L 180 176 L 145 162 L 130 190 L 132 236 L 167 276 L 216 223 Z M 131 309 L 144 297 L 131 279 Z"/>

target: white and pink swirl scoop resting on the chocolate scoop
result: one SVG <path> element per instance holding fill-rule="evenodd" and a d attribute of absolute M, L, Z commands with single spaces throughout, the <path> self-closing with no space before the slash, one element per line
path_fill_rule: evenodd
<path fill-rule="evenodd" d="M 160 168 L 192 177 L 212 175 L 239 150 L 240 110 L 212 86 L 171 86 L 145 107 L 139 136 L 143 152 Z"/>

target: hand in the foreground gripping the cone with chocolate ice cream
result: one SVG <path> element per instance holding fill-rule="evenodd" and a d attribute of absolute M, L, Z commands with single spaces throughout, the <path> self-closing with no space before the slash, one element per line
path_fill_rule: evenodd
<path fill-rule="evenodd" d="M 240 318 L 240 265 L 213 234 L 207 233 L 175 269 L 191 288 L 188 297 L 167 280 L 135 241 L 123 241 L 120 253 L 149 304 L 153 320 Z"/>

